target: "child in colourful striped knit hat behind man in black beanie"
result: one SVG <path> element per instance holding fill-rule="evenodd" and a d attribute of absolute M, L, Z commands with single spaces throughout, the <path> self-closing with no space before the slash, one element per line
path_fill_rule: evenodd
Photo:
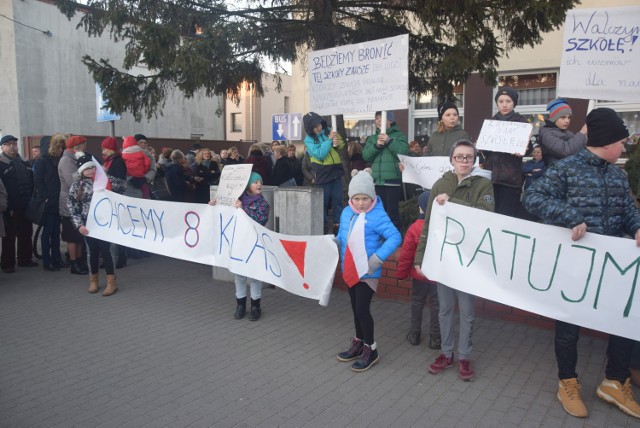
<path fill-rule="evenodd" d="M 569 131 L 573 112 L 564 98 L 558 98 L 547 104 L 549 119 L 538 133 L 539 143 L 544 147 L 543 159 L 547 165 L 557 160 L 575 155 L 587 144 L 587 125 L 574 134 Z"/>

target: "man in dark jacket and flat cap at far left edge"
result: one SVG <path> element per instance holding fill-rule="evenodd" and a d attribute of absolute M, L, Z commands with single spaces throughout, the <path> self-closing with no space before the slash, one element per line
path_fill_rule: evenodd
<path fill-rule="evenodd" d="M 31 220 L 26 216 L 33 193 L 33 172 L 29 164 L 18 154 L 16 137 L 5 135 L 0 140 L 0 146 L 2 148 L 0 177 L 9 196 L 5 214 L 6 236 L 2 238 L 0 267 L 6 273 L 13 273 L 16 265 L 16 240 L 18 241 L 18 266 L 38 266 L 38 263 L 31 260 L 33 227 Z"/>

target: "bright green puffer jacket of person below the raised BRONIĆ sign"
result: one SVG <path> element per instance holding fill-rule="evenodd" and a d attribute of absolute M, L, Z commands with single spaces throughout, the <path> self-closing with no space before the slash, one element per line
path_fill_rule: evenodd
<path fill-rule="evenodd" d="M 374 135 L 367 137 L 362 149 L 362 158 L 371 165 L 376 184 L 382 185 L 391 180 L 400 183 L 402 174 L 398 168 L 398 162 L 400 162 L 398 155 L 406 155 L 409 152 L 407 137 L 400 132 L 395 123 L 387 128 L 389 140 L 382 147 L 376 144 L 378 135 L 380 135 L 380 129 L 377 129 Z"/>

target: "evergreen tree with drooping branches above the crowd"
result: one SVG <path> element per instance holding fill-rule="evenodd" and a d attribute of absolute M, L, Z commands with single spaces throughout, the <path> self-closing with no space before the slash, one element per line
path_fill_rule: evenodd
<path fill-rule="evenodd" d="M 498 59 L 558 28 L 579 0 L 57 0 L 79 28 L 126 42 L 122 64 L 84 55 L 108 107 L 137 120 L 162 111 L 170 91 L 231 94 L 252 82 L 263 94 L 267 61 L 309 50 L 410 34 L 409 89 L 451 98 L 479 72 L 493 84 Z M 148 75 L 132 75 L 142 64 Z M 280 82 L 278 81 L 278 86 Z"/>

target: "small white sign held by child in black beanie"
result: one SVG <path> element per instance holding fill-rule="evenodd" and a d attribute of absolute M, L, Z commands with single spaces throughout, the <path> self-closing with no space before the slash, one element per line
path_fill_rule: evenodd
<path fill-rule="evenodd" d="M 476 142 L 478 150 L 524 155 L 533 125 L 523 122 L 485 120 Z"/>

